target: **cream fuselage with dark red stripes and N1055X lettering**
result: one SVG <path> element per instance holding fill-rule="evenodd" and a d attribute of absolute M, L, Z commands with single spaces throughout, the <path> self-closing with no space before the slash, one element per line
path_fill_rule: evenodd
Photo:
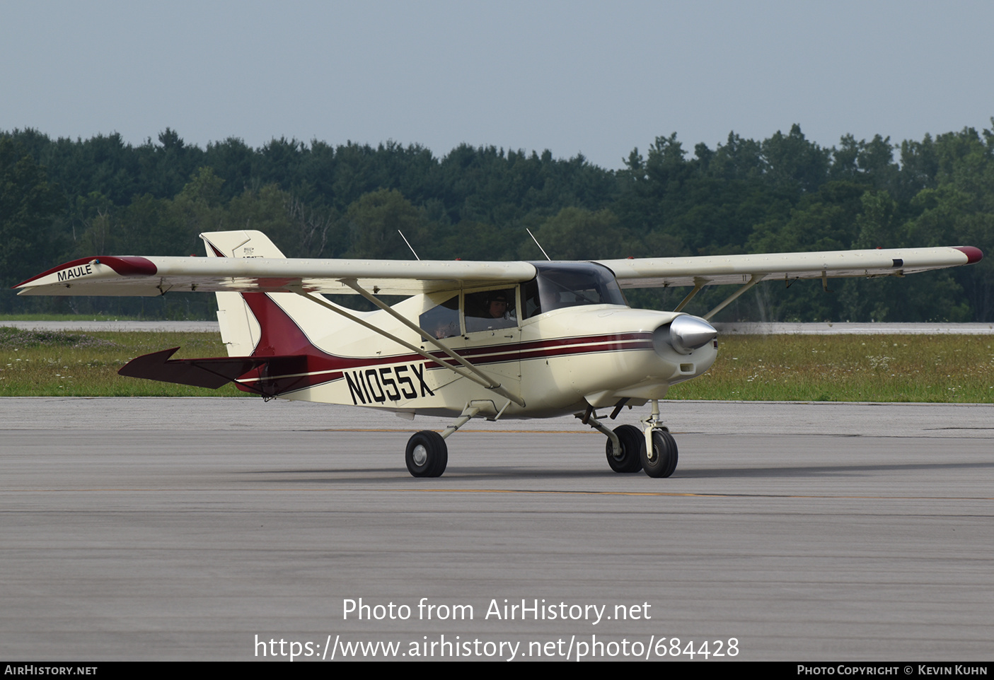
<path fill-rule="evenodd" d="M 254 330 L 258 337 L 251 340 L 253 353 L 302 353 L 307 355 L 306 366 L 282 374 L 258 371 L 239 382 L 243 389 L 251 389 L 268 381 L 278 386 L 280 398 L 383 408 L 406 415 L 459 413 L 473 402 L 481 408 L 481 415 L 533 418 L 574 413 L 587 405 L 609 407 L 622 399 L 637 406 L 662 398 L 670 385 L 707 370 L 717 355 L 717 342 L 681 353 L 667 341 L 669 325 L 686 315 L 617 304 L 537 310 L 522 320 L 505 315 L 494 321 L 493 328 L 480 329 L 481 324 L 475 323 L 479 319 L 467 318 L 467 312 L 472 314 L 467 306 L 472 307 L 477 293 L 493 292 L 459 294 L 459 304 L 449 305 L 456 313 L 457 334 L 439 341 L 520 403 L 450 369 L 456 365 L 452 358 L 386 312 L 354 314 L 386 334 L 414 343 L 430 358 L 334 313 L 329 318 L 322 314 L 326 310 L 305 309 L 304 298 L 281 294 L 247 298 L 250 316 L 258 322 Z M 506 289 L 506 297 L 512 295 L 511 309 L 525 309 L 521 291 Z M 416 322 L 444 302 L 438 296 L 414 296 L 393 309 Z M 280 331 L 289 324 L 299 328 L 299 338 L 288 338 L 291 332 Z M 302 346 L 287 346 L 294 341 Z M 240 353 L 234 349 L 233 354 Z"/>

